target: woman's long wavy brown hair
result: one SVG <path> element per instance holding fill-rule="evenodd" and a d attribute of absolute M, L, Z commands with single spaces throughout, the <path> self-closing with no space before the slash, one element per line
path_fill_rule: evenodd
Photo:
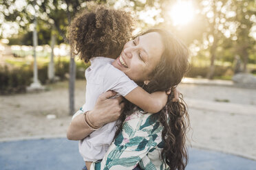
<path fill-rule="evenodd" d="M 142 85 L 142 88 L 149 93 L 155 91 L 167 91 L 170 87 L 177 86 L 189 69 L 189 51 L 187 47 L 178 38 L 164 29 L 149 29 L 140 35 L 149 32 L 158 32 L 164 42 L 164 53 L 160 62 L 151 73 L 149 84 Z M 190 127 L 189 114 L 186 110 L 186 104 L 180 95 L 180 101 L 173 102 L 173 92 L 168 97 L 166 106 L 160 112 L 153 114 L 153 119 L 160 121 L 163 126 L 162 140 L 164 148 L 162 149 L 162 159 L 169 165 L 171 170 L 184 170 L 187 164 L 188 155 L 186 151 L 186 130 Z M 125 117 L 134 112 L 134 104 L 125 100 L 125 109 L 122 112 L 116 135 L 122 129 L 122 123 Z"/>

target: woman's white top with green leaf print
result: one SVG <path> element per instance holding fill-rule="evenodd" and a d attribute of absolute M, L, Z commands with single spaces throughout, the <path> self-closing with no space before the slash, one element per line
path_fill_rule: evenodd
<path fill-rule="evenodd" d="M 162 125 L 153 120 L 152 114 L 134 112 L 122 124 L 122 132 L 111 143 L 101 162 L 94 162 L 91 170 L 98 169 L 169 169 L 164 165 L 161 151 Z M 104 139 L 103 139 L 104 140 Z"/>

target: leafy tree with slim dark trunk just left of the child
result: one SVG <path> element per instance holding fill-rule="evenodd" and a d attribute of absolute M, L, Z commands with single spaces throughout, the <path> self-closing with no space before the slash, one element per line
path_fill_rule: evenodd
<path fill-rule="evenodd" d="M 27 30 L 30 23 L 33 22 L 33 16 L 30 12 L 32 4 L 36 3 L 36 8 L 39 11 L 39 19 L 45 23 L 45 25 L 50 25 L 51 30 L 56 29 L 56 32 L 63 38 L 65 42 L 68 43 L 68 40 L 65 36 L 66 28 L 70 25 L 72 17 L 86 7 L 87 1 L 83 0 L 26 0 L 26 5 L 21 9 L 10 10 L 9 8 L 15 3 L 16 0 L 12 1 L 1 1 L 1 6 L 4 9 L 7 9 L 5 19 L 7 21 L 17 21 L 19 18 L 19 23 L 21 29 Z M 106 3 L 105 0 L 97 0 L 96 3 Z M 25 24 L 24 24 L 25 23 Z M 54 35 L 54 34 L 52 34 Z M 70 84 L 69 84 L 69 94 L 70 94 L 70 115 L 74 114 L 74 82 L 76 78 L 76 65 L 74 62 L 74 56 L 72 49 L 70 51 Z"/>

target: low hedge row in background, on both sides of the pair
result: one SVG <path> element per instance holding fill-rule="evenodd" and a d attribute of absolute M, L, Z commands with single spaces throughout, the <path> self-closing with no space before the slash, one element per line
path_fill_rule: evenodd
<path fill-rule="evenodd" d="M 76 79 L 85 79 L 85 69 L 89 63 L 76 61 Z M 48 64 L 38 64 L 38 76 L 41 84 L 46 84 Z M 55 75 L 60 80 L 66 80 L 70 71 L 70 61 L 61 60 L 58 58 L 55 62 Z M 206 77 L 209 71 L 208 66 L 194 66 L 191 64 L 191 69 L 186 73 L 186 77 Z M 253 71 L 254 72 L 254 71 Z M 233 75 L 231 66 L 215 66 L 215 78 L 227 77 L 229 79 Z M 0 94 L 10 93 L 24 93 L 26 87 L 32 83 L 33 80 L 33 63 L 29 65 L 22 65 L 19 67 L 3 66 L 0 67 Z"/>

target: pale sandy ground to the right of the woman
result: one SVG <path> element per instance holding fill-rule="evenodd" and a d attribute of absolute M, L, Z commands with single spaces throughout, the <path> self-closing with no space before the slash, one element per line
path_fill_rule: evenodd
<path fill-rule="evenodd" d="M 182 84 L 192 147 L 256 160 L 256 90 Z M 228 101 L 228 102 L 223 102 Z"/>

